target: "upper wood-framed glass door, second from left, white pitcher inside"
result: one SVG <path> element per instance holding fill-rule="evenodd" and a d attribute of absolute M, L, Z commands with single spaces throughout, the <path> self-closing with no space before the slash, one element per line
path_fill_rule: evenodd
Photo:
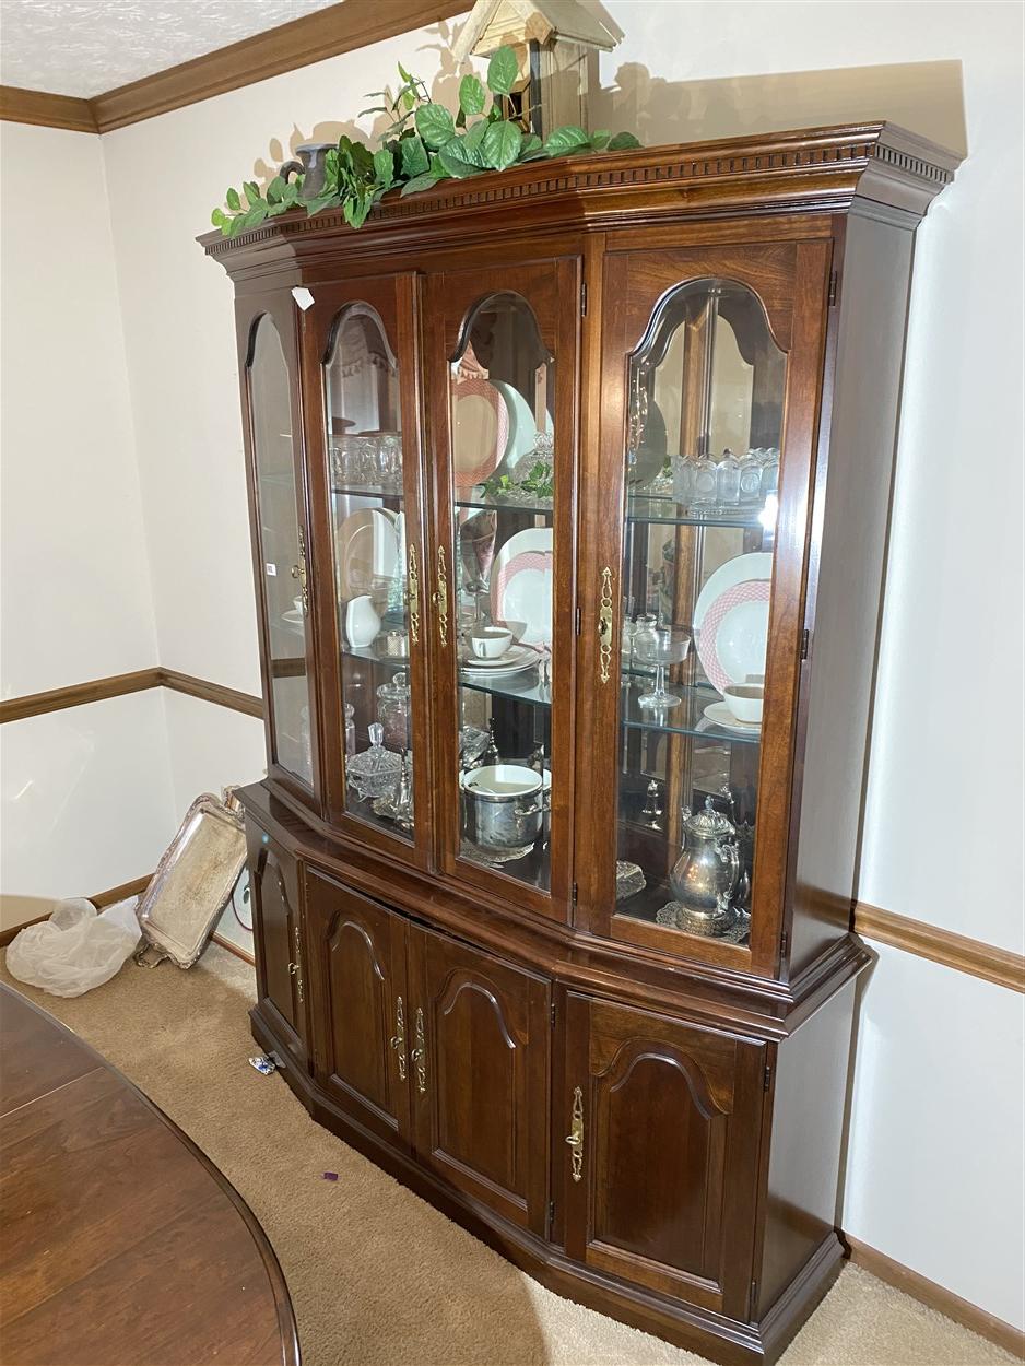
<path fill-rule="evenodd" d="M 333 717 L 328 806 L 362 843 L 415 848 L 422 862 L 429 765 L 411 290 L 410 277 L 316 290 L 303 329 L 323 413 L 312 436 L 329 546 L 323 638 L 336 642 L 321 668 Z"/>

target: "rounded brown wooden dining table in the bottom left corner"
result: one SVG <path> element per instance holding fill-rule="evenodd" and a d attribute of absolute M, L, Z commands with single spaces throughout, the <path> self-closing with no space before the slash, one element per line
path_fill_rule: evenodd
<path fill-rule="evenodd" d="M 137 1086 L 3 984 L 0 1361 L 299 1362 L 282 1268 L 238 1191 Z"/>

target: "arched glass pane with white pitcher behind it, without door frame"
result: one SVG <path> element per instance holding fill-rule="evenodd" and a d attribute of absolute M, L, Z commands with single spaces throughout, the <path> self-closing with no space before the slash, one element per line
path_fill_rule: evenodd
<path fill-rule="evenodd" d="M 399 366 L 365 303 L 335 321 L 324 361 L 346 810 L 409 840 L 413 824 L 406 511 Z"/>

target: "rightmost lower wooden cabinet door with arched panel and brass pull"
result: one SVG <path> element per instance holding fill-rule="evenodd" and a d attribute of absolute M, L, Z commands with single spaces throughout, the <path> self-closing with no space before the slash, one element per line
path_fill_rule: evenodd
<path fill-rule="evenodd" d="M 570 994 L 566 1250 L 748 1318 L 764 1045 Z"/>

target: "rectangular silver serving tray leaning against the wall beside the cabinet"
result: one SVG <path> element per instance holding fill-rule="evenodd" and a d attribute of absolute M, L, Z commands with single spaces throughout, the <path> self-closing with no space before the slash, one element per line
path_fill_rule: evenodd
<path fill-rule="evenodd" d="M 197 796 L 138 904 L 146 941 L 137 963 L 169 958 L 191 967 L 246 863 L 246 835 L 234 798 Z"/>

